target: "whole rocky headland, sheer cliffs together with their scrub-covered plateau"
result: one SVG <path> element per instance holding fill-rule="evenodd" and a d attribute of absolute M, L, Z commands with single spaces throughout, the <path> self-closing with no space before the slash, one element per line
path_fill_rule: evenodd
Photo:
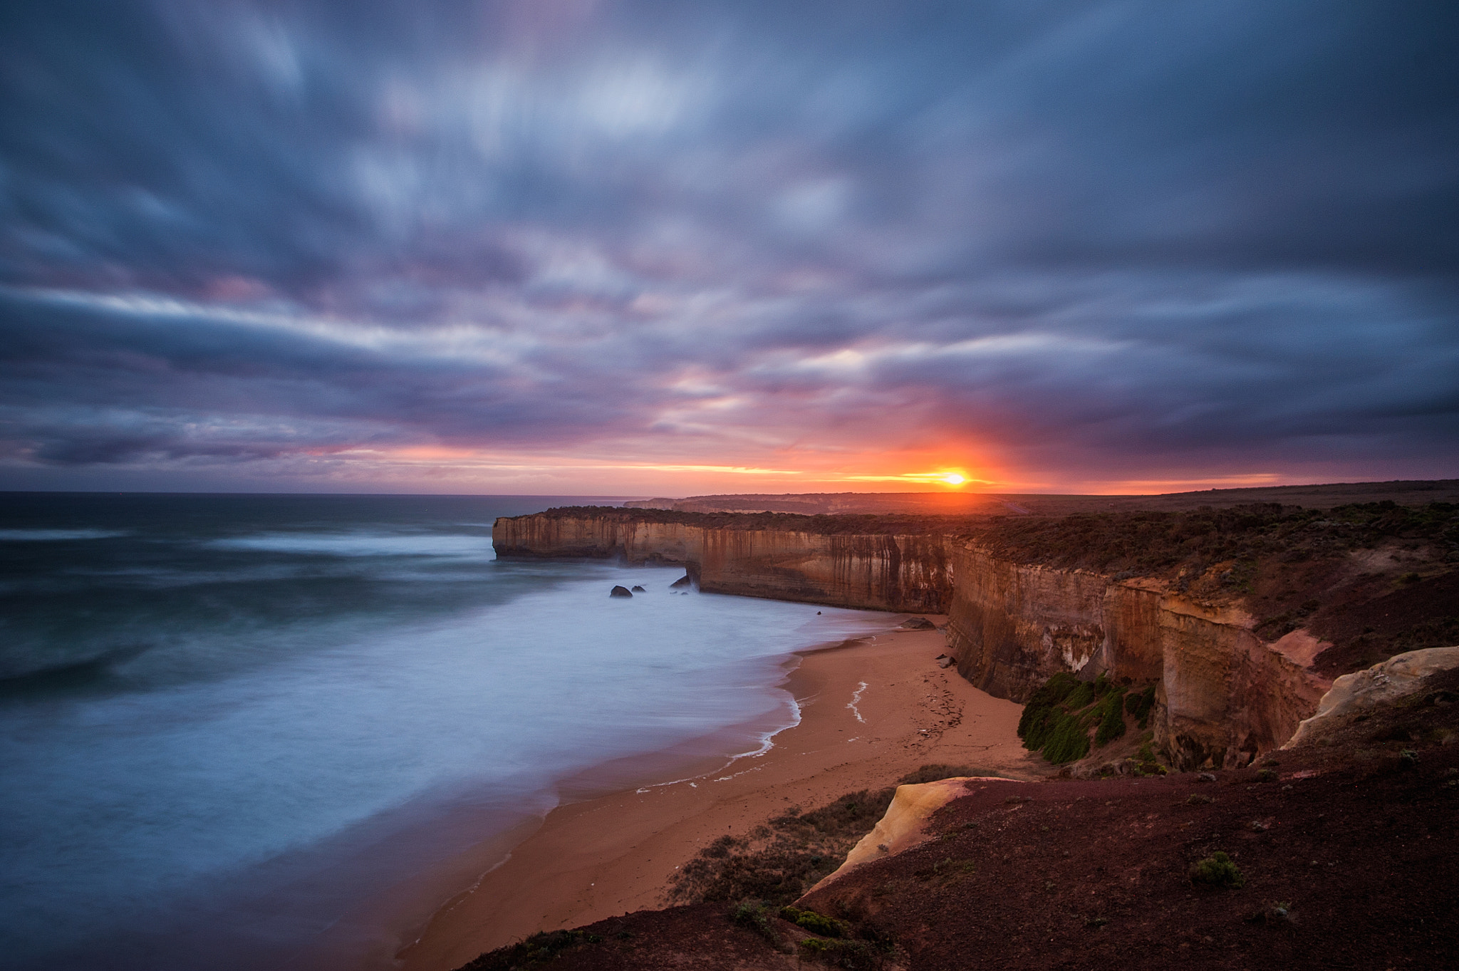
<path fill-rule="evenodd" d="M 709 592 L 945 612 L 960 674 L 996 697 L 1023 701 L 1059 671 L 1157 685 L 1154 741 L 1176 768 L 1246 764 L 1335 675 L 1459 634 L 1452 503 L 1023 519 L 578 507 L 499 519 L 493 542 L 683 564 Z"/>

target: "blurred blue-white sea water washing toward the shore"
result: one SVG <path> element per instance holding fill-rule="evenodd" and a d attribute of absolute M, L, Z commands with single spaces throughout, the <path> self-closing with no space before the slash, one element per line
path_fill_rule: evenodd
<path fill-rule="evenodd" d="M 0 497 L 0 965 L 312 965 L 569 777 L 754 751 L 786 656 L 872 623 L 495 558 L 496 516 L 591 502 Z"/>

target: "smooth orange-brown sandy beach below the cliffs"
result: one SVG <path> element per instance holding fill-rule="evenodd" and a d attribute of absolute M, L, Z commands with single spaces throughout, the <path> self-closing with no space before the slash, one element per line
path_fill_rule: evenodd
<path fill-rule="evenodd" d="M 505 863 L 436 911 L 401 951 L 401 967 L 448 971 L 538 930 L 662 907 L 674 869 L 712 840 L 789 806 L 887 786 L 924 764 L 1046 776 L 1018 742 L 1021 707 L 938 668 L 943 633 L 891 630 L 900 620 L 890 615 L 874 637 L 802 652 L 785 685 L 801 720 L 765 754 L 728 767 L 722 758 L 689 771 L 681 764 L 664 777 L 678 781 L 554 809 Z"/>

